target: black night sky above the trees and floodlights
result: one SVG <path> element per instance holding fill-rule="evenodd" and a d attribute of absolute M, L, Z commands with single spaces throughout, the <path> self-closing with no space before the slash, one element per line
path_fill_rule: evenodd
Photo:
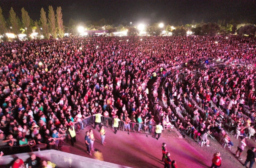
<path fill-rule="evenodd" d="M 40 18 L 43 7 L 48 15 L 48 6 L 54 10 L 61 6 L 64 24 L 70 18 L 79 21 L 98 21 L 101 18 L 114 24 L 134 25 L 143 22 L 187 24 L 195 22 L 217 22 L 232 18 L 241 23 L 256 22 L 256 0 L 0 0 L 5 18 L 13 7 L 21 18 L 21 8 L 28 11 L 33 20 Z"/>

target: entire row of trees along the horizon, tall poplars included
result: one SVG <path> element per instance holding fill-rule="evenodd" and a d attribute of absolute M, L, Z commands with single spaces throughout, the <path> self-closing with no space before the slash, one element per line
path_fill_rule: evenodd
<path fill-rule="evenodd" d="M 28 12 L 24 9 L 21 9 L 21 20 L 16 15 L 15 11 L 11 7 L 9 12 L 9 18 L 5 20 L 2 15 L 2 9 L 0 7 L 0 34 L 5 33 L 14 33 L 27 34 L 29 38 L 29 34 L 32 33 L 32 30 L 35 29 L 39 35 L 43 35 L 44 38 L 49 39 L 50 36 L 53 38 L 63 38 L 65 31 L 70 34 L 77 34 L 76 26 L 84 26 L 87 30 L 108 30 L 109 33 L 113 33 L 116 31 L 126 31 L 128 30 L 128 35 L 137 35 L 139 33 L 138 29 L 135 28 L 135 25 L 131 26 L 129 23 L 118 24 L 115 26 L 111 24 L 113 21 L 106 20 L 104 18 L 99 21 L 86 21 L 85 23 L 70 19 L 69 23 L 67 23 L 67 27 L 63 25 L 62 20 L 62 11 L 61 7 L 57 7 L 56 13 L 52 6 L 48 7 L 48 17 L 46 16 L 46 12 L 43 8 L 40 11 L 40 19 L 39 21 L 33 21 Z M 178 24 L 178 23 L 177 23 Z M 167 32 L 171 32 L 173 35 L 186 35 L 187 31 L 192 31 L 194 35 L 228 35 L 235 34 L 238 35 L 248 35 L 254 36 L 256 31 L 256 26 L 252 24 L 238 24 L 232 19 L 226 24 L 225 20 L 219 20 L 217 23 L 208 22 L 204 23 L 196 23 L 192 21 L 191 24 L 175 26 L 175 29 L 171 25 L 165 25 L 163 28 L 159 28 L 158 23 L 153 23 L 150 26 L 147 26 L 145 31 L 149 35 L 160 35 L 163 30 Z M 128 26 L 123 26 L 128 25 Z M 65 29 L 66 28 L 66 29 Z M 41 34 L 42 32 L 42 34 Z"/>

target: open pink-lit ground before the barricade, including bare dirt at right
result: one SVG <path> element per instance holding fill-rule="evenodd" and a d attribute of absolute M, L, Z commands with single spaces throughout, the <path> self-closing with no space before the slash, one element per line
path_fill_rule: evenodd
<path fill-rule="evenodd" d="M 86 153 L 86 147 L 84 142 L 85 132 L 91 129 L 87 127 L 77 135 L 77 143 L 74 147 L 70 147 L 70 153 L 82 155 L 85 157 L 93 158 Z M 246 159 L 246 151 L 249 149 L 246 147 L 242 154 L 242 161 L 239 161 L 233 153 L 235 153 L 238 145 L 238 140 L 232 135 L 230 138 L 234 142 L 234 147 L 229 151 L 227 148 L 223 149 L 223 146 L 210 139 L 210 147 L 205 145 L 201 147 L 192 138 L 186 137 L 179 139 L 174 130 L 165 130 L 161 134 L 159 140 L 156 140 L 150 136 L 118 131 L 114 134 L 114 130 L 107 128 L 106 133 L 106 145 L 100 144 L 100 135 L 97 130 L 94 130 L 94 136 L 96 141 L 94 147 L 102 152 L 104 161 L 116 163 L 129 167 L 164 167 L 161 162 L 162 152 L 161 145 L 163 142 L 167 144 L 167 150 L 171 153 L 171 159 L 177 161 L 179 168 L 185 167 L 210 167 L 213 154 L 217 151 L 221 152 L 222 166 L 227 168 L 243 167 Z M 69 141 L 67 143 L 70 143 Z M 248 146 L 254 144 L 253 140 L 246 139 Z M 255 166 L 255 165 L 254 165 Z M 249 164 L 248 166 L 249 167 Z"/>

